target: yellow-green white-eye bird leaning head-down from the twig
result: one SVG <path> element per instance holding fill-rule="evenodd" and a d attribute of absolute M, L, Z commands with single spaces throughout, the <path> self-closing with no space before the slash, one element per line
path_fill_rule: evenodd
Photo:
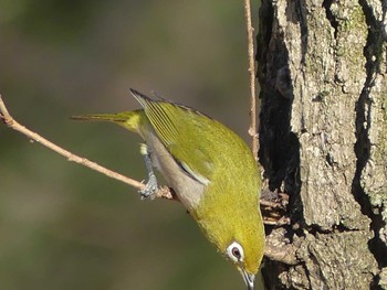
<path fill-rule="evenodd" d="M 252 290 L 264 251 L 264 227 L 259 207 L 261 175 L 249 147 L 201 112 L 130 93 L 143 109 L 73 118 L 112 121 L 140 135 L 149 174 L 142 196 L 151 197 L 158 189 L 154 167 Z"/>

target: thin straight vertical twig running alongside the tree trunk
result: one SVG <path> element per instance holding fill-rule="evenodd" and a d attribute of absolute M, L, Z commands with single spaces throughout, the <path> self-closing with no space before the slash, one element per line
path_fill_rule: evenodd
<path fill-rule="evenodd" d="M 254 64 L 254 29 L 251 21 L 251 3 L 250 0 L 244 0 L 244 17 L 248 31 L 248 57 L 249 57 L 249 74 L 250 74 L 250 128 L 249 135 L 252 138 L 251 151 L 258 160 L 259 142 L 257 132 L 257 97 L 255 97 L 255 64 Z"/>

